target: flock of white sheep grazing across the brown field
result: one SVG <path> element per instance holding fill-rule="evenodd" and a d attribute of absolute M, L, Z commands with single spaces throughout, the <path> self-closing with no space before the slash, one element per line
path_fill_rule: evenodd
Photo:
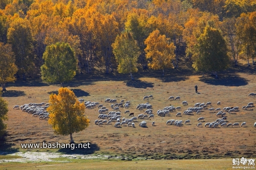
<path fill-rule="evenodd" d="M 254 93 L 250 93 L 248 96 L 256 96 Z M 154 99 L 153 95 L 149 96 L 144 96 L 143 100 L 149 100 L 149 99 Z M 134 113 L 130 113 L 129 110 L 127 110 L 129 107 L 131 107 L 131 101 L 124 101 L 121 100 L 120 102 L 117 102 L 117 99 L 110 99 L 107 98 L 105 99 L 105 103 L 111 103 L 110 111 L 106 106 L 103 104 L 100 104 L 99 102 L 91 102 L 91 101 L 85 101 L 84 99 L 78 99 L 79 102 L 83 102 L 85 105 L 86 109 L 93 109 L 98 107 L 99 109 L 99 119 L 96 119 L 94 121 L 95 125 L 98 126 L 103 126 L 103 125 L 112 125 L 112 122 L 114 123 L 114 127 L 122 127 L 122 126 L 127 126 L 127 127 L 135 127 L 135 122 L 140 122 L 139 119 L 144 119 L 139 123 L 139 127 L 147 127 L 147 122 L 146 120 L 151 120 L 154 119 L 153 114 L 153 106 L 149 104 L 149 102 L 146 103 L 141 103 L 138 104 L 136 109 L 139 111 L 144 111 L 144 113 L 140 113 L 137 116 L 134 116 Z M 180 100 L 180 96 L 174 97 L 170 96 L 168 100 Z M 183 106 L 188 105 L 187 101 L 181 102 Z M 217 102 L 217 105 L 221 105 L 221 102 Z M 212 108 L 212 103 L 207 102 L 207 103 L 200 103 L 197 102 L 195 103 L 194 107 L 189 107 L 186 110 L 183 111 L 183 113 L 179 112 L 181 111 L 181 106 L 166 106 L 163 109 L 157 110 L 156 115 L 165 117 L 165 116 L 170 116 L 171 113 L 176 112 L 176 117 L 181 117 L 183 115 L 200 115 L 204 111 L 209 111 L 209 113 L 216 113 L 216 116 L 218 119 L 212 120 L 211 122 L 206 122 L 204 124 L 204 127 L 209 127 L 209 128 L 218 128 L 218 127 L 247 127 L 246 122 L 242 122 L 241 125 L 238 122 L 235 123 L 227 123 L 227 113 L 228 114 L 236 114 L 237 111 L 239 111 L 239 107 L 224 107 L 223 109 L 221 108 Z M 29 114 L 32 114 L 33 117 L 38 117 L 40 120 L 48 120 L 49 119 L 49 113 L 47 112 L 47 108 L 49 107 L 49 103 L 28 103 L 24 105 L 15 105 L 13 109 L 20 109 L 23 112 L 27 112 Z M 253 110 L 253 102 L 249 102 L 247 105 L 244 105 L 242 107 L 242 110 Z M 121 113 L 120 111 L 121 108 L 125 108 L 125 111 Z M 125 118 L 122 117 L 122 115 L 127 115 L 128 117 L 131 118 Z M 145 120 L 146 119 L 146 120 Z M 199 117 L 198 122 L 197 122 L 197 127 L 203 127 L 202 122 L 205 122 L 204 117 Z M 184 124 L 183 124 L 184 122 Z M 155 121 L 151 122 L 152 126 L 155 126 Z M 191 125 L 190 120 L 175 120 L 175 119 L 170 119 L 166 121 L 166 125 L 174 125 L 174 126 L 183 126 L 183 125 Z M 253 127 L 256 127 L 256 122 L 254 123 Z"/>

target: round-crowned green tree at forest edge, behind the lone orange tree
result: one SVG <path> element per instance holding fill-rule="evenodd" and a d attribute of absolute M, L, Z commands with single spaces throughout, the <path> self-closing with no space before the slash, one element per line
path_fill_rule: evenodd
<path fill-rule="evenodd" d="M 73 79 L 77 71 L 77 59 L 73 49 L 67 43 L 57 42 L 46 47 L 41 66 L 42 79 L 46 82 L 64 82 Z"/>

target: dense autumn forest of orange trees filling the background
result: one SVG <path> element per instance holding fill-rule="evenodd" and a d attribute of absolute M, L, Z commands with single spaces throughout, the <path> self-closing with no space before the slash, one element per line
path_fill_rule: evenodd
<path fill-rule="evenodd" d="M 256 0 L 0 1 L 0 42 L 12 48 L 23 79 L 44 65 L 47 46 L 58 42 L 73 49 L 77 72 L 98 66 L 105 73 L 118 68 L 131 74 L 137 71 L 134 65 L 123 69 L 127 64 L 120 62 L 127 59 L 113 53 L 113 47 L 133 51 L 124 48 L 121 34 L 131 34 L 122 43 L 139 49 L 132 63 L 143 69 L 178 68 L 184 54 L 198 71 L 227 68 L 227 58 L 250 65 L 256 56 Z"/>

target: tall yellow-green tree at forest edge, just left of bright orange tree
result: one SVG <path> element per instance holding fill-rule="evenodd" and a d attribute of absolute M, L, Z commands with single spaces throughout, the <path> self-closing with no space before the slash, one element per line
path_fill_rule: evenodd
<path fill-rule="evenodd" d="M 134 80 L 132 73 L 138 71 L 137 61 L 140 56 L 140 48 L 133 39 L 130 32 L 124 32 L 116 37 L 113 43 L 113 54 L 118 62 L 117 71 L 119 73 L 130 73 L 131 79 Z"/>

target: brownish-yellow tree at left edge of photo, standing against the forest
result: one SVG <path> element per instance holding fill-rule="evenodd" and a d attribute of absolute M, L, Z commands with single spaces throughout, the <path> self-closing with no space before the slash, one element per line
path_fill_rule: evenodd
<path fill-rule="evenodd" d="M 0 42 L 0 85 L 3 91 L 6 91 L 6 83 L 14 82 L 17 73 L 17 66 L 15 65 L 15 55 L 12 52 L 12 46 L 4 45 Z"/>

